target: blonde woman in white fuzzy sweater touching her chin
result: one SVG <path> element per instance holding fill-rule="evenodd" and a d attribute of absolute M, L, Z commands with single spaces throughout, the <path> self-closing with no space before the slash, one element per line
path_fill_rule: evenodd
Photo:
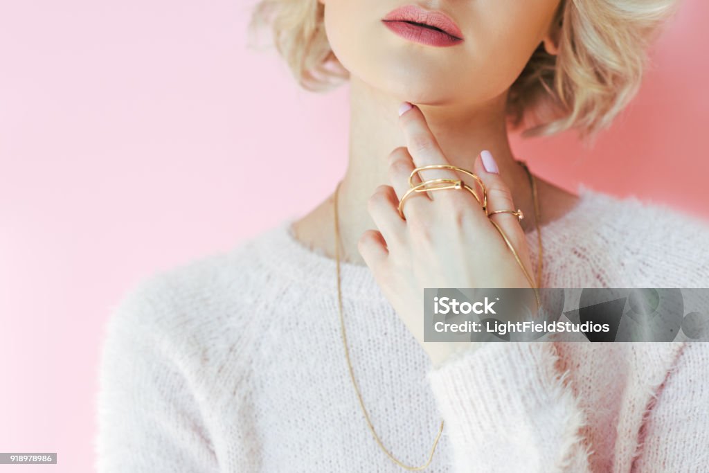
<path fill-rule="evenodd" d="M 510 120 L 608 126 L 672 8 L 263 1 L 301 84 L 350 80 L 347 172 L 305 216 L 125 297 L 99 471 L 704 471 L 705 344 L 423 340 L 425 287 L 709 286 L 705 223 L 570 194 L 508 143 Z M 480 182 L 425 169 L 476 185 L 404 197 L 442 164 Z"/>

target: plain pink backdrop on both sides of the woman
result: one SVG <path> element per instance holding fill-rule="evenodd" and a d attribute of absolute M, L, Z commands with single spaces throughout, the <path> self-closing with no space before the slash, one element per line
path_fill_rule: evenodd
<path fill-rule="evenodd" d="M 306 212 L 342 174 L 347 89 L 299 91 L 273 52 L 247 48 L 251 4 L 2 2 L 0 452 L 91 471 L 111 306 L 141 277 Z M 515 139 L 517 154 L 568 189 L 709 217 L 707 18 L 706 1 L 685 2 L 595 148 L 564 135 Z M 272 198 L 305 173 L 319 176 Z M 0 471 L 13 468 L 51 469 Z"/>

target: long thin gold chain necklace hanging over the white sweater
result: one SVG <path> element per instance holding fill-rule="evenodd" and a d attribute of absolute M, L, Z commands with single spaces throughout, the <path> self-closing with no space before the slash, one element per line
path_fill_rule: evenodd
<path fill-rule="evenodd" d="M 539 201 L 537 198 L 537 182 L 535 177 L 532 175 L 530 172 L 529 168 L 527 165 L 522 162 L 518 161 L 520 165 L 525 169 L 527 172 L 527 176 L 530 179 L 530 186 L 532 187 L 532 200 L 534 201 L 534 213 L 535 213 L 535 227 L 537 228 L 537 243 L 539 245 L 539 252 L 538 252 L 538 258 L 537 258 L 537 287 L 540 286 L 540 282 L 542 279 L 542 232 L 539 226 L 539 219 L 540 219 L 540 210 L 539 210 Z M 347 348 L 347 335 L 345 334 L 345 318 L 342 316 L 342 289 L 340 287 L 340 218 L 337 214 L 337 194 L 339 194 L 340 191 L 340 184 L 342 184 L 342 181 L 337 182 L 337 187 L 335 187 L 335 199 L 334 199 L 334 207 L 335 207 L 335 261 L 337 262 L 337 306 L 340 309 L 340 328 L 342 329 L 342 345 L 345 346 L 345 358 L 347 358 L 347 367 L 350 368 L 350 378 L 352 378 L 352 386 L 354 386 L 354 392 L 357 393 L 357 399 L 359 400 L 359 406 L 362 407 L 362 412 L 364 413 L 364 420 L 367 421 L 367 425 L 369 426 L 369 430 L 372 432 L 372 435 L 374 436 L 374 440 L 376 440 L 377 445 L 381 448 L 384 453 L 386 453 L 386 456 L 391 458 L 391 460 L 398 464 L 398 466 L 408 469 L 408 470 L 422 470 L 428 467 L 428 465 L 431 463 L 431 460 L 433 460 L 433 453 L 436 450 L 436 447 L 438 445 L 438 440 L 440 440 L 440 436 L 443 433 L 443 421 L 441 421 L 440 428 L 438 429 L 438 433 L 436 435 L 435 440 L 433 440 L 433 446 L 431 447 L 431 452 L 428 455 L 428 460 L 425 462 L 425 464 L 421 465 L 420 467 L 412 467 L 411 465 L 402 463 L 399 461 L 396 457 L 394 457 L 389 450 L 386 450 L 386 447 L 384 447 L 384 444 L 381 442 L 381 439 L 379 438 L 379 435 L 376 434 L 376 430 L 374 430 L 374 425 L 372 425 L 372 421 L 369 420 L 369 413 L 367 412 L 367 408 L 364 407 L 364 401 L 362 400 L 362 393 L 359 392 L 359 387 L 357 386 L 357 381 L 354 380 L 354 369 L 352 369 L 352 361 L 350 360 L 350 350 Z"/>

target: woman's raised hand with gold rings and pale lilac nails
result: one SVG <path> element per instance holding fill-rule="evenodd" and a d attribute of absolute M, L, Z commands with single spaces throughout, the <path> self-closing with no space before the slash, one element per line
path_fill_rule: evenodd
<path fill-rule="evenodd" d="M 433 364 L 438 365 L 459 344 L 424 343 L 425 287 L 530 286 L 490 218 L 495 219 L 507 235 L 528 274 L 533 273 L 525 234 L 518 218 L 510 213 L 497 213 L 488 218 L 469 191 L 445 189 L 430 193 L 414 192 L 403 205 L 406 220 L 399 216 L 399 199 L 410 188 L 408 177 L 413 169 L 449 164 L 419 108 L 412 106 L 406 110 L 406 106 L 402 106 L 402 110 L 399 123 L 406 137 L 406 148 L 396 148 L 389 155 L 391 185 L 377 187 L 368 201 L 368 210 L 377 230 L 362 233 L 357 248 L 386 299 L 423 345 Z M 498 174 L 491 155 L 486 156 L 485 162 L 480 155 L 476 157 L 472 169 L 461 167 L 478 175 L 484 182 L 490 212 L 515 210 L 510 189 Z M 462 179 L 473 189 L 477 188 L 471 177 L 453 169 L 426 169 L 419 175 L 424 180 Z M 414 182 L 421 180 L 415 179 Z"/>

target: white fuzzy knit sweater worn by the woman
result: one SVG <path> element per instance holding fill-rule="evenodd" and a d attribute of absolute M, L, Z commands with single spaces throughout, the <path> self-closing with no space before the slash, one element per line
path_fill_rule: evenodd
<path fill-rule="evenodd" d="M 544 286 L 709 287 L 706 223 L 579 196 L 542 227 Z M 99 473 L 404 471 L 352 386 L 335 261 L 294 238 L 294 219 L 113 307 Z M 425 471 L 709 471 L 709 343 L 488 343 L 432 367 L 366 266 L 342 264 L 342 297 L 364 404 L 407 464 L 425 462 L 445 420 Z"/>

